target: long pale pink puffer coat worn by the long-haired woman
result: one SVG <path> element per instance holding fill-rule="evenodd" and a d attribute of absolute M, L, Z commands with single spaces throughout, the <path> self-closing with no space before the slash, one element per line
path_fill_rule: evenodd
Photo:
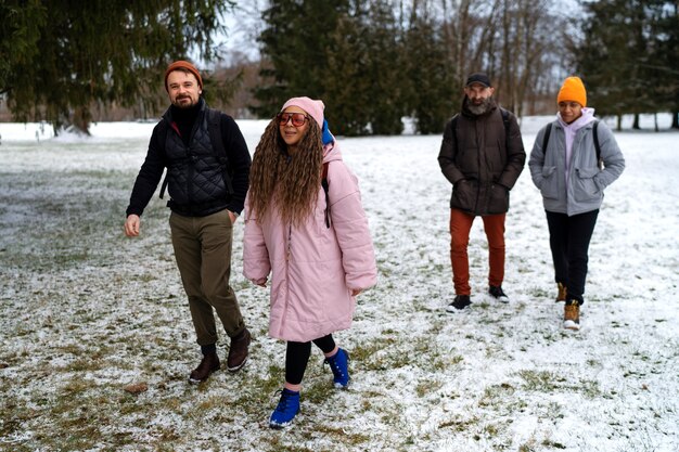
<path fill-rule="evenodd" d="M 283 224 L 276 206 L 259 223 L 245 201 L 243 274 L 255 284 L 271 280 L 269 335 L 309 341 L 351 325 L 351 289 L 376 282 L 377 269 L 361 206 L 358 181 L 336 143 L 326 148 L 330 228 L 325 193 L 319 186 L 313 217 L 302 227 Z"/>

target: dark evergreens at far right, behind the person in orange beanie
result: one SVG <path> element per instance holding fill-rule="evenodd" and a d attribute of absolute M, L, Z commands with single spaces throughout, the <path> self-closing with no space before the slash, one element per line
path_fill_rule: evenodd
<path fill-rule="evenodd" d="M 576 57 L 598 112 L 633 114 L 639 128 L 641 113 L 679 109 L 675 2 L 605 0 L 585 8 Z"/>

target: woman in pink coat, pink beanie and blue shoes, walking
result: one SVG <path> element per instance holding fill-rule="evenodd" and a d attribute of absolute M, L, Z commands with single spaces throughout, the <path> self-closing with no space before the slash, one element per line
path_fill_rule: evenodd
<path fill-rule="evenodd" d="M 376 281 L 358 181 L 323 108 L 309 98 L 285 102 L 257 145 L 245 201 L 243 273 L 262 287 L 271 273 L 269 335 L 287 341 L 272 428 L 299 411 L 311 343 L 325 356 L 334 386 L 348 386 L 348 353 L 332 333 L 350 326 L 356 296 Z"/>

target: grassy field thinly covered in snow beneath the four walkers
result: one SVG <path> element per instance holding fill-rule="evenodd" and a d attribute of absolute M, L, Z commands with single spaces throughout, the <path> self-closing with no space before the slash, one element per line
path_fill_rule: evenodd
<path fill-rule="evenodd" d="M 527 153 L 547 120 L 524 119 Z M 266 121 L 239 124 L 254 152 Z M 164 202 L 152 201 L 141 237 L 123 234 L 153 125 L 99 124 L 80 139 L 0 124 L 0 450 L 679 450 L 679 133 L 667 117 L 658 133 L 652 118 L 642 127 L 616 133 L 627 169 L 606 191 L 577 333 L 561 327 L 527 167 L 507 223 L 512 302 L 485 295 L 477 220 L 474 304 L 451 314 L 440 137 L 341 139 L 380 282 L 359 297 L 353 328 L 336 335 L 354 385 L 332 389 L 315 349 L 302 412 L 273 431 L 284 344 L 267 337 L 267 292 L 241 275 L 243 223 L 232 285 L 255 336 L 251 361 L 192 386 L 198 348 Z"/>

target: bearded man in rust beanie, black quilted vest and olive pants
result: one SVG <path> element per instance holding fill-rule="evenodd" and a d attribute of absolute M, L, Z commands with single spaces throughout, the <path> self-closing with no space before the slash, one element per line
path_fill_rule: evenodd
<path fill-rule="evenodd" d="M 233 118 L 207 107 L 193 64 L 171 63 L 165 89 L 171 105 L 153 129 L 127 208 L 125 234 L 139 235 L 140 217 L 167 168 L 161 197 L 167 185 L 175 258 L 203 353 L 189 379 L 200 383 L 220 367 L 214 311 L 231 338 L 227 369 L 236 372 L 247 361 L 251 335 L 229 277 L 232 229 L 243 210 L 252 159 Z"/>

